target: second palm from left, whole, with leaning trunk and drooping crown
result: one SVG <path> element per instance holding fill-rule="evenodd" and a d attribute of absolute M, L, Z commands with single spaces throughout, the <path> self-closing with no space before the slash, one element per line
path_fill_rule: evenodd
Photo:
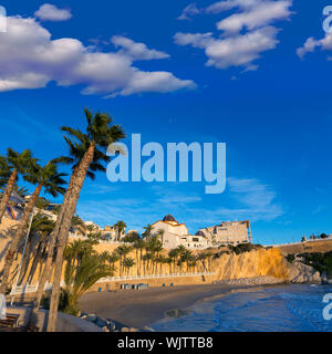
<path fill-rule="evenodd" d="M 4 268 L 1 282 L 2 293 L 6 293 L 7 291 L 8 278 L 14 254 L 18 251 L 19 242 L 24 233 L 29 217 L 32 214 L 35 201 L 38 200 L 41 190 L 44 189 L 44 192 L 51 194 L 53 197 L 56 197 L 59 194 L 64 194 L 65 189 L 62 187 L 62 185 L 65 184 L 65 180 L 62 178 L 64 176 L 64 174 L 58 173 L 58 167 L 52 160 L 49 162 L 44 167 L 41 167 L 37 163 L 34 163 L 33 166 L 30 167 L 29 173 L 27 173 L 27 180 L 33 185 L 37 185 L 37 187 L 24 208 L 24 212 L 4 258 Z"/>

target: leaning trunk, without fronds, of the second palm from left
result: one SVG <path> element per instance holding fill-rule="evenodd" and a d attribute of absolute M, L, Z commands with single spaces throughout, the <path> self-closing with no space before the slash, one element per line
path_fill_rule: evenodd
<path fill-rule="evenodd" d="M 29 217 L 33 210 L 37 198 L 39 197 L 42 187 L 43 187 L 42 185 L 38 185 L 38 187 L 34 189 L 33 195 L 31 196 L 31 198 L 24 209 L 24 212 L 23 212 L 22 219 L 20 220 L 18 229 L 11 240 L 11 243 L 9 246 L 9 250 L 6 254 L 4 268 L 3 268 L 3 273 L 2 273 L 2 282 L 1 282 L 1 289 L 0 289 L 0 292 L 3 294 L 7 291 L 8 278 L 9 278 L 10 269 L 11 269 L 11 266 L 13 262 L 13 258 L 14 258 L 15 252 L 18 250 L 19 242 L 21 240 L 21 237 L 24 233 Z"/>

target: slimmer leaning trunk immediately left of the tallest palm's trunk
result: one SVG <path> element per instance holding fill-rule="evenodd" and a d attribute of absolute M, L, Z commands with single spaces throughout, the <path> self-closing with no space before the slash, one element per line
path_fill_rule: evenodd
<path fill-rule="evenodd" d="M 37 320 L 37 313 L 38 313 L 39 304 L 40 304 L 41 298 L 43 295 L 46 281 L 49 280 L 49 275 L 50 275 L 50 271 L 51 271 L 51 267 L 52 267 L 52 261 L 53 261 L 53 256 L 54 256 L 54 247 L 55 247 L 55 243 L 56 243 L 56 240 L 58 240 L 58 235 L 59 235 L 60 227 L 61 227 L 61 223 L 62 223 L 62 220 L 63 220 L 63 216 L 64 216 L 64 214 L 65 214 L 65 211 L 68 209 L 68 204 L 69 204 L 70 197 L 72 195 L 73 184 L 74 184 L 74 180 L 75 180 L 76 175 L 77 175 L 77 169 L 79 169 L 79 167 L 75 167 L 73 173 L 72 173 L 72 176 L 71 176 L 71 179 L 70 179 L 70 184 L 68 186 L 65 196 L 63 198 L 63 202 L 61 205 L 61 208 L 60 208 L 60 211 L 59 211 L 59 215 L 58 215 L 58 218 L 56 218 L 54 230 L 53 230 L 52 235 L 50 236 L 50 243 L 49 243 L 48 251 L 46 251 L 45 266 L 43 268 L 42 275 L 41 275 L 41 278 L 39 280 L 37 294 L 35 294 L 35 298 L 34 298 L 34 300 L 32 302 L 32 308 L 31 308 L 31 311 L 30 311 L 29 323 L 32 324 L 32 325 L 34 324 L 34 321 Z"/>

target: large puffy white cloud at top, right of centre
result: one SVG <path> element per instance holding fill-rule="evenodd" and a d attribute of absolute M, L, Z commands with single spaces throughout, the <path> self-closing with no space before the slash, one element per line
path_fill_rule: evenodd
<path fill-rule="evenodd" d="M 175 43 L 205 50 L 206 65 L 218 69 L 243 66 L 245 71 L 258 69 L 252 62 L 261 53 L 272 50 L 279 43 L 276 21 L 289 19 L 291 0 L 227 0 L 219 1 L 201 10 L 205 13 L 220 13 L 235 10 L 221 21 L 217 29 L 221 33 L 176 33 Z"/>

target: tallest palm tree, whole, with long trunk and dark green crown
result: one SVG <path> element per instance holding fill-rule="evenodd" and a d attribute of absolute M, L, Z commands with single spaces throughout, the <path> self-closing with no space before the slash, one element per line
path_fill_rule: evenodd
<path fill-rule="evenodd" d="M 110 162 L 106 155 L 106 149 L 111 144 L 125 137 L 124 131 L 118 125 L 111 125 L 112 118 L 106 113 L 96 113 L 93 115 L 89 110 L 84 110 L 86 117 L 86 132 L 82 133 L 80 129 L 71 127 L 62 127 L 62 131 L 68 133 L 66 142 L 70 146 L 71 153 L 79 157 L 80 164 L 73 178 L 73 185 L 66 201 L 65 212 L 61 230 L 58 235 L 59 244 L 56 249 L 56 258 L 53 274 L 53 289 L 51 294 L 50 313 L 48 331 L 55 331 L 55 323 L 58 317 L 58 303 L 60 296 L 60 282 L 62 273 L 63 251 L 68 241 L 71 219 L 75 212 L 76 204 L 80 198 L 80 192 L 83 187 L 85 177 L 94 177 L 92 171 L 105 170 L 102 165 L 103 162 Z M 92 170 L 92 171 L 91 171 Z"/>

